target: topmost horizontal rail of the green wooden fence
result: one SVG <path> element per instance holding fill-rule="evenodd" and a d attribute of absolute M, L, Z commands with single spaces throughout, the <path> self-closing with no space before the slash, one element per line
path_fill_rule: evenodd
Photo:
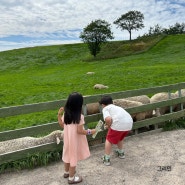
<path fill-rule="evenodd" d="M 185 83 L 173 84 L 168 86 L 158 86 L 152 88 L 136 89 L 115 93 L 99 94 L 92 96 L 84 96 L 84 104 L 98 102 L 103 95 L 111 95 L 113 99 L 127 98 L 132 96 L 140 96 L 145 94 L 155 94 L 159 92 L 171 92 L 185 88 Z M 21 106 L 12 106 L 0 108 L 0 117 L 15 116 L 20 114 L 28 114 L 33 112 L 41 112 L 47 110 L 56 110 L 64 105 L 66 100 L 57 100 L 43 103 L 35 103 Z"/>

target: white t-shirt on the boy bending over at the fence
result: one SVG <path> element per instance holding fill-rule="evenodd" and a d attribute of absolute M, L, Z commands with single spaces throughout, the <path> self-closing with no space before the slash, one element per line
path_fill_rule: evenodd
<path fill-rule="evenodd" d="M 114 104 L 109 104 L 102 109 L 103 118 L 110 116 L 112 118 L 111 128 L 117 131 L 128 131 L 132 129 L 133 119 L 131 115 L 123 108 Z"/>

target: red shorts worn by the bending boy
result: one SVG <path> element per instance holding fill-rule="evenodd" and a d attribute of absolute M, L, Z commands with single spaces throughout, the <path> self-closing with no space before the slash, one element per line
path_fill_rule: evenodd
<path fill-rule="evenodd" d="M 109 128 L 106 139 L 112 144 L 118 144 L 128 133 L 129 131 L 117 131 Z"/>

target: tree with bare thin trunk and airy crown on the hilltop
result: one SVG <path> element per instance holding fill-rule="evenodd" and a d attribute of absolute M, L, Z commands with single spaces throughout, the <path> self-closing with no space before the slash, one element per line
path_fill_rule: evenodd
<path fill-rule="evenodd" d="M 131 40 L 132 30 L 144 28 L 143 19 L 144 15 L 141 12 L 129 11 L 114 21 L 114 24 L 117 24 L 122 30 L 127 30 Z"/>

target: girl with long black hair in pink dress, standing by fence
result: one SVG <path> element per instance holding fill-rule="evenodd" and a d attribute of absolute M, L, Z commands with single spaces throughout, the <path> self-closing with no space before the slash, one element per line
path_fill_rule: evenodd
<path fill-rule="evenodd" d="M 69 95 L 64 108 L 58 111 L 58 122 L 64 128 L 64 178 L 68 178 L 69 184 L 82 182 L 82 177 L 75 175 L 77 162 L 90 156 L 86 135 L 96 132 L 95 129 L 84 129 L 82 105 L 83 96 L 74 92 Z"/>

